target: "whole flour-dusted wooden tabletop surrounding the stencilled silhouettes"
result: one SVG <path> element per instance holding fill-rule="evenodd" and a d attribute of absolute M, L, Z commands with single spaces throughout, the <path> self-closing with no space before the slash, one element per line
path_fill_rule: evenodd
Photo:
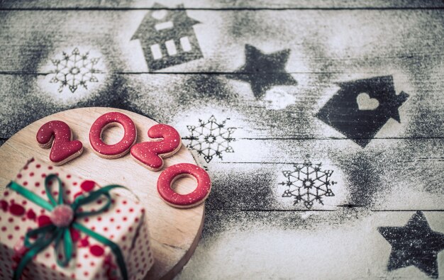
<path fill-rule="evenodd" d="M 67 108 L 112 106 L 179 130 L 212 115 L 236 128 L 232 153 L 204 160 L 213 192 L 199 246 L 178 279 L 426 279 L 389 271 L 377 231 L 415 211 L 444 232 L 443 1 L 162 1 L 184 4 L 203 58 L 153 71 L 131 40 L 153 1 L 3 1 L 0 137 Z M 174 8 L 170 8 L 174 11 Z M 55 24 L 57 23 L 57 24 Z M 245 45 L 288 50 L 297 84 L 256 99 L 234 79 Z M 104 73 L 85 93 L 50 86 L 51 59 L 79 47 Z M 265 72 L 273 76 L 276 69 Z M 338 82 L 392 75 L 409 94 L 362 148 L 316 113 Z M 234 77 L 234 78 L 233 78 Z M 348 105 L 338 106 L 347 111 Z M 282 172 L 310 161 L 333 170 L 335 196 L 307 209 L 282 197 Z M 444 254 L 437 257 L 443 275 Z"/>

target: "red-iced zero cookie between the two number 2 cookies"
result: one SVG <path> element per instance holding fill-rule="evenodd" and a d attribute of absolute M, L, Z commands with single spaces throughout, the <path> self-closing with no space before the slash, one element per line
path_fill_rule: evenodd
<path fill-rule="evenodd" d="M 113 145 L 105 144 L 101 140 L 101 133 L 113 125 L 121 125 L 125 134 L 122 140 Z M 89 142 L 92 149 L 100 157 L 106 159 L 114 159 L 117 157 L 123 157 L 130 150 L 131 146 L 137 139 L 137 130 L 130 117 L 119 112 L 105 113 L 94 121 L 89 130 Z"/>

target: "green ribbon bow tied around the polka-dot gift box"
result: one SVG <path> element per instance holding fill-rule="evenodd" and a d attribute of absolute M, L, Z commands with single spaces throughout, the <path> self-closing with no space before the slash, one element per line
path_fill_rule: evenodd
<path fill-rule="evenodd" d="M 57 200 L 54 197 L 52 197 L 49 187 L 50 185 L 49 182 L 52 179 L 57 179 L 57 182 L 59 184 L 59 192 Z M 12 189 L 13 191 L 18 192 L 18 194 L 21 194 L 29 201 L 32 201 L 33 203 L 37 204 L 42 208 L 45 208 L 48 211 L 52 211 L 54 210 L 55 207 L 64 204 L 63 194 L 62 194 L 63 191 L 62 181 L 56 174 L 50 174 L 45 179 L 45 190 L 46 194 L 48 195 L 49 202 L 45 201 L 45 199 L 41 198 L 40 196 L 34 194 L 32 191 L 25 189 L 23 186 L 17 184 L 15 181 L 11 181 L 7 187 Z M 89 228 L 85 228 L 84 225 L 81 225 L 75 221 L 76 218 L 96 215 L 108 210 L 109 206 L 111 206 L 111 195 L 109 194 L 109 191 L 111 191 L 111 189 L 116 189 L 116 188 L 127 189 L 124 186 L 109 185 L 109 186 L 104 186 L 103 188 L 98 189 L 97 191 L 91 191 L 88 196 L 84 195 L 77 196 L 77 198 L 74 199 L 74 202 L 68 205 L 71 207 L 72 213 L 74 213 L 74 217 L 72 219 L 72 223 L 70 225 L 67 225 L 66 227 L 57 227 L 55 225 L 50 224 L 50 225 L 44 225 L 34 230 L 29 230 L 28 233 L 26 233 L 25 235 L 25 241 L 24 241 L 25 246 L 29 250 L 22 257 L 20 263 L 14 270 L 13 280 L 19 280 L 21 274 L 23 273 L 23 269 L 25 269 L 28 262 L 30 262 L 33 259 L 33 257 L 35 257 L 35 255 L 45 250 L 45 248 L 48 247 L 52 242 L 55 242 L 54 250 L 57 259 L 57 264 L 60 267 L 66 267 L 67 264 L 69 264 L 70 260 L 72 259 L 72 251 L 74 246 L 70 233 L 71 227 L 75 228 L 76 230 L 80 230 L 83 233 L 86 233 L 87 235 L 93 237 L 95 240 L 110 247 L 111 251 L 116 257 L 118 267 L 121 270 L 121 276 L 123 277 L 123 279 L 127 280 L 128 272 L 126 270 L 125 260 L 123 259 L 123 254 L 118 245 L 116 245 L 116 243 L 112 242 L 108 238 L 99 235 L 98 233 L 95 233 L 93 230 L 90 230 Z M 104 196 L 106 198 L 106 203 L 99 210 L 87 211 L 87 212 L 78 211 L 79 207 L 84 206 L 93 201 L 96 201 L 96 199 L 98 199 L 100 196 Z M 30 242 L 30 238 L 32 237 L 37 237 L 37 239 L 34 242 Z M 59 252 L 61 251 L 63 252 L 63 254 L 61 254 L 62 258 L 59 257 Z"/>

